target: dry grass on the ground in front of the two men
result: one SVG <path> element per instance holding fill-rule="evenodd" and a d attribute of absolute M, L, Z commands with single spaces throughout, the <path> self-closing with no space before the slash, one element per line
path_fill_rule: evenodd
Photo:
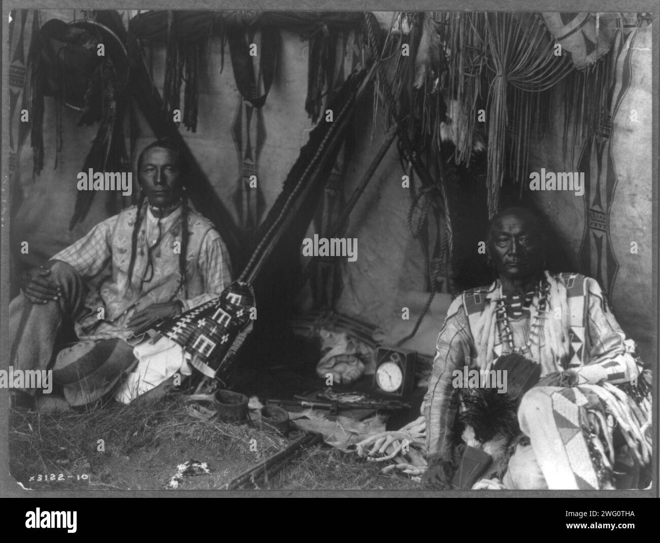
<path fill-rule="evenodd" d="M 193 418 L 181 395 L 59 414 L 10 411 L 11 473 L 34 489 L 162 490 L 177 465 L 191 459 L 207 462 L 211 473 L 184 478 L 182 490 L 222 489 L 287 443 L 248 424 Z M 381 467 L 317 445 L 257 484 L 272 490 L 420 488 L 405 476 L 381 474 Z"/>

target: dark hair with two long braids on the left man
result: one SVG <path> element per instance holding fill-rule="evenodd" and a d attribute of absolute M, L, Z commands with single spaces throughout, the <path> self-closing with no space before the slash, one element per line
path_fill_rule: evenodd
<path fill-rule="evenodd" d="M 148 146 L 146 146 L 142 152 L 140 153 L 140 156 L 137 159 L 137 179 L 140 179 L 140 171 L 142 167 L 142 162 L 145 157 L 145 154 L 147 154 L 147 151 L 150 149 L 166 149 L 174 156 L 176 156 L 176 163 L 178 164 L 179 171 L 182 172 L 183 170 L 183 160 L 182 160 L 182 154 L 178 146 L 172 142 L 172 140 L 167 139 L 167 138 L 162 138 L 160 140 L 156 140 L 152 143 L 150 143 Z M 179 281 L 179 286 L 176 289 L 176 292 L 174 293 L 174 297 L 179 293 L 179 291 L 183 288 L 184 296 L 187 296 L 187 270 L 186 270 L 186 256 L 188 252 L 188 237 L 189 237 L 189 232 L 188 232 L 188 200 L 187 196 L 185 194 L 185 178 L 182 178 L 182 187 L 181 187 L 181 203 L 182 203 L 182 210 L 181 210 L 181 252 L 179 253 L 179 273 L 181 276 L 181 279 Z M 140 232 L 140 227 L 141 223 L 143 220 L 143 216 L 146 213 L 146 210 L 143 210 L 145 207 L 145 200 L 147 198 L 147 195 L 145 192 L 141 191 L 140 196 L 137 200 L 137 211 L 135 213 L 135 224 L 133 225 L 133 233 L 131 235 L 131 260 L 129 262 L 128 266 L 128 283 L 129 287 L 132 289 L 133 288 L 133 269 L 135 268 L 135 258 L 137 256 L 137 239 L 139 237 L 139 232 Z M 158 219 L 160 221 L 160 218 Z M 151 248 L 147 249 L 149 252 L 149 262 L 151 260 L 150 258 L 150 252 Z"/>

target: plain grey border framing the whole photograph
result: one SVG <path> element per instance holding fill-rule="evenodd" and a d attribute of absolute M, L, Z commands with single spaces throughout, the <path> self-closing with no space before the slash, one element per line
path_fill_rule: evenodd
<path fill-rule="evenodd" d="M 139 3 L 139 6 L 136 4 Z M 9 107 L 9 13 L 13 9 L 81 9 L 80 1 L 71 0 L 10 0 L 2 1 L 2 25 L 0 38 L 3 43 L 2 49 L 2 84 L 3 92 L 0 97 L 2 104 L 2 144 L 1 144 L 1 228 L 0 228 L 0 367 L 9 366 L 9 115 L 5 108 Z M 182 9 L 182 3 L 176 0 L 85 0 L 86 9 Z M 357 9 L 359 8 L 359 9 Z M 600 12 L 627 11 L 650 12 L 653 14 L 652 25 L 652 55 L 653 55 L 653 156 L 649 157 L 653 163 L 652 189 L 652 239 L 653 239 L 653 299 L 655 300 L 653 319 L 658 327 L 658 316 L 660 314 L 660 299 L 658 290 L 658 188 L 659 188 L 659 157 L 660 148 L 658 140 L 659 119 L 659 32 L 660 32 L 660 2 L 639 0 L 586 0 L 579 5 L 582 11 L 593 8 Z M 213 10 L 224 11 L 230 9 L 242 9 L 251 11 L 574 11 L 575 0 L 549 0 L 541 1 L 512 1 L 495 0 L 491 2 L 478 2 L 474 0 L 363 0 L 356 6 L 348 1 L 329 0 L 243 0 L 243 1 L 211 1 L 191 0 L 185 3 L 185 10 Z M 440 329 L 440 324 L 438 326 Z M 613 490 L 613 491 L 569 491 L 569 490 L 183 490 L 172 492 L 171 490 L 23 490 L 20 484 L 9 474 L 9 390 L 0 389 L 0 496 L 2 497 L 30 497 L 30 498 L 127 498 L 127 497 L 385 497 L 399 496 L 412 497 L 451 497 L 451 498 L 495 498 L 495 497 L 539 497 L 539 498 L 652 498 L 659 497 L 658 494 L 658 391 L 659 374 L 658 368 L 658 340 L 660 328 L 656 328 L 655 341 L 653 342 L 652 357 L 653 364 L 653 482 L 650 490 Z M 649 356 L 650 355 L 650 356 Z"/>

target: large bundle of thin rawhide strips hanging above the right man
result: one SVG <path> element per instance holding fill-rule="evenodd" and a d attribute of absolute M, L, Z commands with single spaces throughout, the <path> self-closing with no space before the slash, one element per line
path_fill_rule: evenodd
<path fill-rule="evenodd" d="M 481 85 L 488 84 L 488 213 L 498 211 L 500 186 L 506 172 L 508 138 L 512 176 L 525 171 L 531 121 L 538 117 L 539 100 L 533 93 L 550 89 L 566 77 L 572 65 L 554 53 L 554 44 L 539 16 L 527 13 L 451 13 L 452 74 L 457 76 L 457 101 L 463 111 L 474 111 Z M 512 115 L 510 116 L 510 111 Z M 466 132 L 474 133 L 476 115 L 465 115 Z M 508 123 L 511 130 L 508 130 Z M 463 129 L 459 128 L 459 132 Z M 463 159 L 471 148 L 459 142 Z"/>

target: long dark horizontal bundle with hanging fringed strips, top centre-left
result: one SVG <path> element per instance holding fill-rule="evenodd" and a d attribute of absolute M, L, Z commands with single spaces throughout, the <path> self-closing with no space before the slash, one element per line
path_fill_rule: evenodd
<path fill-rule="evenodd" d="M 203 40 L 211 36 L 220 37 L 222 66 L 224 43 L 229 43 L 236 86 L 245 100 L 254 107 L 261 107 L 275 76 L 280 29 L 314 36 L 310 40 L 310 86 L 306 109 L 317 118 L 324 98 L 323 86 L 332 80 L 333 63 L 325 62 L 325 59 L 335 55 L 337 32 L 355 30 L 361 18 L 362 14 L 358 12 L 333 11 L 147 11 L 133 17 L 129 28 L 139 40 L 166 43 L 164 98 L 168 108 L 178 109 L 174 105 L 179 103 L 182 78 L 190 72 L 190 79 L 185 76 L 185 93 L 188 97 L 185 99 L 185 107 L 190 109 L 190 113 L 184 113 L 184 124 L 192 128 L 197 104 L 194 74 L 199 63 L 199 57 L 193 52 L 195 47 L 201 48 Z M 248 41 L 246 36 L 249 34 L 253 37 L 257 31 L 260 32 L 257 56 L 263 90 L 257 88 L 253 57 L 249 54 L 249 45 L 253 41 Z"/>

